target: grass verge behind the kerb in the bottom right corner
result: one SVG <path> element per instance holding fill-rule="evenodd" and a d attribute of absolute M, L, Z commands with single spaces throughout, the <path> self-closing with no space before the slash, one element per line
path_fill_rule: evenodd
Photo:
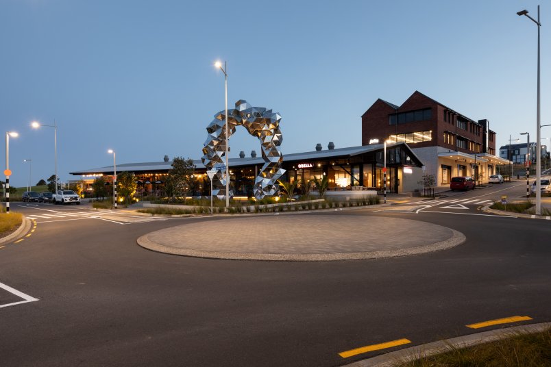
<path fill-rule="evenodd" d="M 551 329 L 511 333 L 505 339 L 422 357 L 394 367 L 543 367 L 551 366 Z"/>

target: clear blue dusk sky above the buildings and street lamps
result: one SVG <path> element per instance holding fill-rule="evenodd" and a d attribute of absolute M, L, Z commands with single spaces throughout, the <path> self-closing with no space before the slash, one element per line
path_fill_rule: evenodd
<path fill-rule="evenodd" d="M 361 144 L 378 98 L 415 90 L 478 120 L 498 147 L 536 130 L 537 1 L 0 0 L 0 125 L 11 183 L 25 186 L 112 164 L 199 159 L 206 126 L 228 99 L 282 115 L 283 154 Z M 551 6 L 541 8 L 541 121 L 551 123 Z M 546 27 L 546 24 L 550 26 Z M 551 137 L 551 127 L 542 128 Z M 549 140 L 542 140 L 548 143 Z M 245 129 L 232 152 L 256 150 Z M 2 159 L 5 159 L 5 149 Z"/>

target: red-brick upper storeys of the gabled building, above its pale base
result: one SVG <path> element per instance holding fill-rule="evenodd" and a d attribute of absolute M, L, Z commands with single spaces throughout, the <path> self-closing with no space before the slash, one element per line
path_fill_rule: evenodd
<path fill-rule="evenodd" d="M 430 112 L 426 113 L 429 109 Z M 424 117 L 421 111 L 425 112 Z M 392 115 L 396 121 L 393 125 Z M 405 122 L 406 117 L 408 122 Z M 404 121 L 398 123 L 400 118 Z M 428 131 L 430 141 L 411 140 L 411 137 L 417 140 L 421 132 L 425 134 L 425 139 L 421 140 L 426 140 Z M 408 139 L 406 142 L 411 148 L 439 146 L 463 153 L 495 155 L 495 132 L 487 131 L 487 149 L 484 149 L 485 136 L 484 121 L 473 121 L 418 91 L 400 106 L 378 99 L 362 116 L 362 145 L 374 140 L 382 142 L 390 137 L 395 141 Z"/>

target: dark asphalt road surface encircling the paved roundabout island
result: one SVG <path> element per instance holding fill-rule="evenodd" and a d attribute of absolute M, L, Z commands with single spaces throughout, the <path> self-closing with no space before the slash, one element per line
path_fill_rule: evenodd
<path fill-rule="evenodd" d="M 513 186 L 495 190 L 522 192 Z M 467 242 L 343 262 L 164 255 L 142 249 L 136 238 L 209 219 L 114 220 L 75 214 L 86 213 L 83 207 L 47 207 L 72 220 L 37 218 L 31 236 L 0 249 L 0 283 L 38 299 L 1 307 L 24 297 L 0 289 L 1 365 L 342 366 L 394 350 L 339 355 L 361 346 L 423 344 L 509 316 L 551 321 L 551 222 L 479 215 L 478 201 L 501 194 L 491 190 L 453 193 L 409 212 L 346 212 L 436 223 L 463 232 Z M 454 209 L 443 203 L 450 199 L 478 201 Z M 44 214 L 38 209 L 17 207 Z M 223 227 L 204 236 L 223 236 Z"/>

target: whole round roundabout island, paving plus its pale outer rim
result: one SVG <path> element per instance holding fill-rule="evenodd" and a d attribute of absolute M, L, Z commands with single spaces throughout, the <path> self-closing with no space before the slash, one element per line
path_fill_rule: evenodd
<path fill-rule="evenodd" d="M 449 249 L 463 233 L 402 218 L 354 215 L 221 217 L 147 233 L 152 251 L 232 260 L 374 259 Z"/>

